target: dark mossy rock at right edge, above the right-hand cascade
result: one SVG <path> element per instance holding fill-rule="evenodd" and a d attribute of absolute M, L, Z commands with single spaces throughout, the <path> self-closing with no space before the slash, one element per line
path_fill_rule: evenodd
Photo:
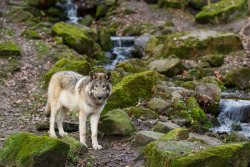
<path fill-rule="evenodd" d="M 237 86 L 239 89 L 250 88 L 250 68 L 233 69 L 226 73 L 223 80 L 228 86 Z"/>

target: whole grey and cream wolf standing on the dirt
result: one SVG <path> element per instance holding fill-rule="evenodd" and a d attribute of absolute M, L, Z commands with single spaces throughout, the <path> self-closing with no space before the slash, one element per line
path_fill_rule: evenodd
<path fill-rule="evenodd" d="M 90 115 L 92 146 L 102 148 L 97 141 L 97 127 L 100 113 L 112 92 L 112 75 L 90 72 L 83 76 L 73 71 L 55 73 L 48 88 L 48 101 L 45 114 L 50 116 L 50 136 L 56 138 L 55 120 L 59 134 L 64 132 L 62 122 L 69 110 L 79 111 L 80 142 L 86 145 L 86 120 Z M 56 115 L 58 113 L 57 119 Z"/>

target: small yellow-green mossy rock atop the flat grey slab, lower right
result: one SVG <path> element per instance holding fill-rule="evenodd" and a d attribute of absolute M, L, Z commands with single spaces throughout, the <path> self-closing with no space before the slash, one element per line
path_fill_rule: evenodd
<path fill-rule="evenodd" d="M 171 130 L 159 140 L 186 140 L 189 137 L 188 129 L 177 128 Z"/>

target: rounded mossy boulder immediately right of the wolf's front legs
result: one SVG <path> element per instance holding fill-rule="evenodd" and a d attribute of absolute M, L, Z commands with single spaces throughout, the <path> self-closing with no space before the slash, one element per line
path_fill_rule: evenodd
<path fill-rule="evenodd" d="M 127 136 L 135 131 L 135 126 L 125 111 L 116 109 L 101 116 L 98 129 L 107 135 Z"/>

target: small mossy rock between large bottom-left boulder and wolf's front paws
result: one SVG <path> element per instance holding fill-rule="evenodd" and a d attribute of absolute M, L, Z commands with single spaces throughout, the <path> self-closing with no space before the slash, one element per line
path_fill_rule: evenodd
<path fill-rule="evenodd" d="M 74 139 L 73 137 L 66 135 L 63 136 L 62 140 L 68 145 L 70 145 L 70 151 L 74 154 L 84 154 L 88 152 L 88 147 L 86 147 L 86 145 L 82 144 L 80 141 Z"/>

